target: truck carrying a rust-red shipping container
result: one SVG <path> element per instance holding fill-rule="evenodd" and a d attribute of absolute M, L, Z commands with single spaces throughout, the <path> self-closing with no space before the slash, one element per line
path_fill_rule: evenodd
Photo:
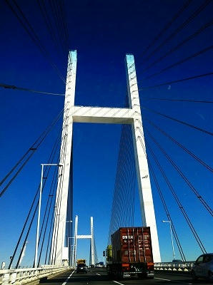
<path fill-rule="evenodd" d="M 154 278 L 150 227 L 120 227 L 106 248 L 106 271 L 109 276 Z"/>

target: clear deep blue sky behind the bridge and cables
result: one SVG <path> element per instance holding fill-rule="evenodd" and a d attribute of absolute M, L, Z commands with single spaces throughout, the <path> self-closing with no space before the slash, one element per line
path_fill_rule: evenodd
<path fill-rule="evenodd" d="M 65 77 L 68 51 L 66 53 L 57 52 L 37 1 L 19 0 L 17 2 L 19 2 L 19 7 L 36 31 L 52 61 L 56 63 Z M 47 3 L 47 1 L 44 2 Z M 192 40 L 183 44 L 177 51 L 171 53 L 149 70 L 144 71 L 149 63 L 160 56 L 164 56 L 170 48 L 177 46 L 184 38 L 212 21 L 213 4 L 211 3 L 167 44 L 162 46 L 157 53 L 154 53 L 149 61 L 142 63 L 143 58 L 145 58 L 143 56 L 145 48 L 172 20 L 184 2 L 179 0 L 65 1 L 69 49 L 76 49 L 78 56 L 75 104 L 123 106 L 127 90 L 124 66 L 126 53 L 133 53 L 135 56 L 139 88 L 212 72 L 211 49 L 162 72 L 158 76 L 146 78 L 161 71 L 162 68 L 212 46 L 212 26 L 209 26 Z M 59 4 L 59 1 L 56 3 Z M 203 1 L 192 1 L 156 41 L 155 45 L 149 48 L 147 55 L 184 23 L 202 3 Z M 54 23 L 54 14 L 49 4 L 47 8 L 51 21 Z M 53 26 L 53 29 L 57 33 L 58 28 Z M 63 33 L 61 28 L 59 31 Z M 64 83 L 39 48 L 31 41 L 5 1 L 0 2 L 0 34 L 0 83 L 51 93 L 64 93 Z M 61 39 L 61 36 L 58 38 Z M 63 108 L 64 98 L 63 96 L 42 95 L 4 88 L 0 88 L 0 95 L 0 177 L 4 177 Z M 160 113 L 212 132 L 211 103 L 145 99 L 151 97 L 212 100 L 212 76 L 140 91 L 141 104 L 147 108 L 152 108 Z M 154 138 L 164 146 L 172 159 L 182 169 L 182 172 L 196 187 L 199 194 L 212 206 L 212 173 L 192 157 L 189 157 L 173 142 L 167 140 L 158 130 L 150 126 L 145 118 L 149 118 L 159 125 L 160 128 L 172 135 L 211 167 L 212 135 L 207 135 L 168 118 L 150 113 L 149 110 L 142 109 L 142 114 L 144 125 L 149 128 Z M 21 175 L 0 198 L 0 261 L 6 261 L 7 264 L 40 181 L 40 164 L 48 160 L 52 143 L 58 135 L 59 128 L 60 124 L 54 128 L 51 135 L 21 172 Z M 79 234 L 89 233 L 89 218 L 90 216 L 94 217 L 96 248 L 100 260 L 108 238 L 120 132 L 120 125 L 79 123 L 74 125 L 74 215 L 79 215 Z M 213 252 L 212 217 L 202 207 L 202 204 L 189 190 L 182 178 L 169 165 L 162 152 L 150 140 L 146 130 L 144 132 L 147 141 L 152 146 L 177 195 L 179 195 L 179 199 L 184 204 L 190 219 L 192 219 L 207 252 Z M 149 152 L 148 155 L 154 165 Z M 154 170 L 177 227 L 186 257 L 188 260 L 194 260 L 200 254 L 200 250 L 156 165 L 154 165 Z M 167 217 L 153 180 L 152 192 L 162 260 L 170 261 L 172 260 L 172 247 L 170 247 L 169 226 L 162 223 L 162 219 L 167 219 Z M 135 226 L 141 226 L 138 197 L 136 209 Z M 31 264 L 34 242 L 35 225 L 28 239 L 23 265 Z M 177 252 L 177 247 L 175 247 L 175 251 Z M 79 257 L 85 257 L 89 261 L 89 241 L 79 242 Z M 177 254 L 177 258 L 179 258 L 179 254 Z"/>

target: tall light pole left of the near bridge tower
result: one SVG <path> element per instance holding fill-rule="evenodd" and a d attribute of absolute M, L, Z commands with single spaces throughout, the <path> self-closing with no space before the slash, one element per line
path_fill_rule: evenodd
<path fill-rule="evenodd" d="M 38 219 L 37 219 L 37 229 L 36 229 L 36 247 L 35 247 L 35 258 L 34 258 L 34 267 L 37 268 L 37 259 L 38 259 L 38 247 L 39 247 L 39 226 L 40 226 L 40 214 L 41 214 L 41 194 L 43 187 L 43 172 L 44 166 L 57 166 L 61 167 L 63 165 L 58 165 L 56 163 L 41 163 L 41 182 L 40 182 L 40 193 L 39 193 L 39 209 L 38 209 Z"/>

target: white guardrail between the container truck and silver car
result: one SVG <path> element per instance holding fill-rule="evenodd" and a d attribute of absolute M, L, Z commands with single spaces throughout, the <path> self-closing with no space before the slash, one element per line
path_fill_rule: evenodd
<path fill-rule="evenodd" d="M 158 262 L 154 264 L 154 270 L 156 271 L 182 271 L 189 272 L 192 270 L 194 261 L 182 261 L 182 262 Z"/>

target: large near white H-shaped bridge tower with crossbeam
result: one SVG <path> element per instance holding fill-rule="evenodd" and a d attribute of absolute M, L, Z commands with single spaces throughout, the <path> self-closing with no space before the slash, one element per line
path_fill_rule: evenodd
<path fill-rule="evenodd" d="M 62 159 L 61 179 L 58 182 L 56 201 L 56 213 L 54 222 L 53 237 L 57 237 L 52 242 L 51 247 L 52 264 L 61 265 L 64 247 L 66 227 L 66 209 L 69 192 L 69 175 L 71 166 L 71 142 L 73 123 L 119 123 L 131 124 L 133 133 L 134 155 L 137 169 L 137 181 L 139 187 L 140 207 L 142 212 L 142 225 L 150 227 L 152 234 L 152 249 L 154 262 L 160 262 L 159 241 L 157 235 L 156 219 L 154 214 L 154 204 L 152 199 L 152 189 L 149 179 L 149 168 L 147 163 L 147 153 L 144 142 L 144 130 L 142 124 L 142 114 L 139 102 L 137 86 L 137 76 L 134 66 L 134 56 L 126 55 L 127 87 L 129 96 L 129 108 L 110 107 L 84 107 L 74 105 L 75 82 L 76 82 L 76 51 L 69 51 L 69 60 L 66 76 L 66 93 L 64 100 L 64 122 L 62 138 L 66 138 L 65 162 Z M 61 146 L 60 157 L 64 157 L 64 148 Z"/>

